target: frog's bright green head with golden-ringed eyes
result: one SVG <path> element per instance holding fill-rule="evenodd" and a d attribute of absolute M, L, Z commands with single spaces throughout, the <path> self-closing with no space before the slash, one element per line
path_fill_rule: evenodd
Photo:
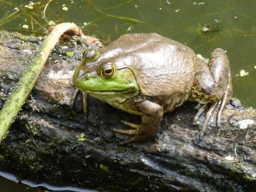
<path fill-rule="evenodd" d="M 98 51 L 85 51 L 73 75 L 74 86 L 81 91 L 100 95 L 138 92 L 137 82 L 130 69 L 119 69 L 115 63 L 103 60 Z"/>

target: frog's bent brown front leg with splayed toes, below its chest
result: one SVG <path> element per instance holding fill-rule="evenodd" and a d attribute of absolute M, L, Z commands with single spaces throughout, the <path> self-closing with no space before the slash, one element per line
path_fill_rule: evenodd
<path fill-rule="evenodd" d="M 131 104 L 131 103 L 129 103 Z M 125 140 L 120 144 L 126 144 L 135 141 L 145 141 L 153 138 L 161 124 L 163 117 L 163 108 L 157 103 L 150 100 L 144 100 L 142 102 L 135 102 L 131 106 L 132 110 L 141 113 L 141 123 L 138 127 L 135 124 L 132 125 L 133 130 L 120 130 L 113 129 L 113 131 L 121 134 L 134 135 L 133 138 Z"/>

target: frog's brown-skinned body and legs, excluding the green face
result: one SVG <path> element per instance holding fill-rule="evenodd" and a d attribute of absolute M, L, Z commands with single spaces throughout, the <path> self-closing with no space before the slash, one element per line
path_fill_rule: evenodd
<path fill-rule="evenodd" d="M 207 64 L 187 46 L 150 33 L 122 35 L 98 51 L 101 57 L 87 63 L 88 74 L 105 63 L 115 63 L 119 69 L 131 69 L 139 87 L 137 95 L 122 103 L 122 110 L 141 115 L 141 124 L 131 125 L 133 130 L 114 129 L 134 135 L 122 144 L 153 138 L 163 113 L 175 110 L 187 100 L 203 104 L 194 120 L 197 123 L 200 116 L 205 116 L 203 133 L 215 112 L 219 125 L 221 112 L 232 94 L 229 62 L 222 49 L 214 50 Z"/>

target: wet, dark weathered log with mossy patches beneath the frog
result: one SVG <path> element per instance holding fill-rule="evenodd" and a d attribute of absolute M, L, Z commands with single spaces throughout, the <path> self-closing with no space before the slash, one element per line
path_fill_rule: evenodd
<path fill-rule="evenodd" d="M 0 33 L 0 108 L 42 38 Z M 112 128 L 139 123 L 89 97 L 71 108 L 72 74 L 90 45 L 78 37 L 60 42 L 29 99 L 0 144 L 0 169 L 35 183 L 99 191 L 253 191 L 256 186 L 256 110 L 229 104 L 221 129 L 198 141 L 195 103 L 166 113 L 155 139 L 119 146 Z M 67 52 L 74 52 L 68 57 Z M 72 54 L 71 54 L 72 55 Z M 81 98 L 80 98 L 81 100 Z"/>

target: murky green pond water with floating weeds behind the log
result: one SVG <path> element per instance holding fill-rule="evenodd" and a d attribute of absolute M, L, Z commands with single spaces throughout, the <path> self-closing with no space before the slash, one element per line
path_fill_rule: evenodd
<path fill-rule="evenodd" d="M 49 23 L 74 22 L 104 45 L 125 33 L 156 32 L 204 57 L 218 47 L 223 48 L 230 61 L 233 97 L 256 108 L 255 0 L 53 0 L 34 1 L 40 3 L 35 5 L 29 2 L 0 0 L 0 29 L 38 36 L 48 32 Z M 204 26 L 210 31 L 202 33 Z M 248 75 L 240 76 L 241 70 Z M 6 182 L 1 179 L 0 186 Z M 10 187 L 9 191 L 28 191 L 23 186 L 14 189 L 14 184 L 5 185 Z"/>

